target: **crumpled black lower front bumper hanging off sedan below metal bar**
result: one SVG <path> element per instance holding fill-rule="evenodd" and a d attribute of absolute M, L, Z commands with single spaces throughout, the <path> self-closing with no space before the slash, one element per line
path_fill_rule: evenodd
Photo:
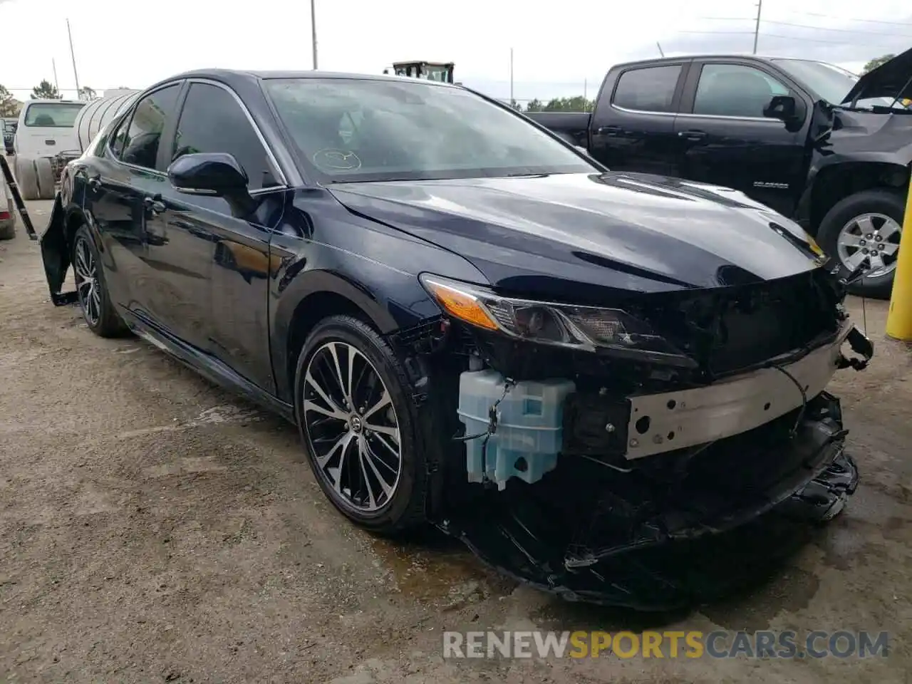
<path fill-rule="evenodd" d="M 793 436 L 788 414 L 677 472 L 564 461 L 534 486 L 482 492 L 440 526 L 485 563 L 568 600 L 699 603 L 751 583 L 855 492 L 839 400 L 823 392 L 802 415 Z"/>

